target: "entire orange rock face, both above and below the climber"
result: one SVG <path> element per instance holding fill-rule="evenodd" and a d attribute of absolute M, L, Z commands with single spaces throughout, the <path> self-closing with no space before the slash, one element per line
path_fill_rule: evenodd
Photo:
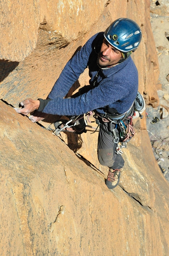
<path fill-rule="evenodd" d="M 138 0 L 26 0 L 24 6 L 1 1 L 3 256 L 167 255 L 169 184 L 154 160 L 145 118 L 135 121 L 121 182 L 110 191 L 104 182 L 108 170 L 97 161 L 97 133 L 64 138 L 77 154 L 10 106 L 28 97 L 46 98 L 75 51 L 119 17 L 141 27 L 143 40 L 132 57 L 140 92 L 147 104 L 157 106 L 159 68 L 149 6 Z M 85 83 L 87 72 L 71 93 Z"/>

